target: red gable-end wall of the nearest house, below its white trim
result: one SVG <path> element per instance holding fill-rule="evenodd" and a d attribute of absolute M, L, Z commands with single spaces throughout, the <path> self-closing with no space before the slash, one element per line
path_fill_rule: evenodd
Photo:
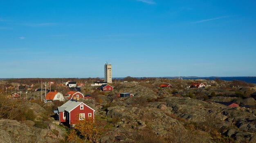
<path fill-rule="evenodd" d="M 81 105 L 81 104 L 80 104 Z M 79 121 L 79 114 L 80 113 L 85 113 L 85 118 L 88 118 L 88 113 L 92 113 L 92 119 L 94 119 L 94 113 L 93 110 L 88 108 L 83 104 L 83 110 L 80 110 L 80 105 L 74 108 L 70 112 L 70 125 L 76 124 L 77 121 Z"/>

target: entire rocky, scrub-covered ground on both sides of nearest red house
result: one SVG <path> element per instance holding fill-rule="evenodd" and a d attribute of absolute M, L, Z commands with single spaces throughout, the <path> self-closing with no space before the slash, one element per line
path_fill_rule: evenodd
<path fill-rule="evenodd" d="M 206 87 L 188 89 L 193 82 L 204 83 Z M 173 88 L 160 88 L 160 84 L 171 84 Z M 96 110 L 94 128 L 99 129 L 99 135 L 95 142 L 256 142 L 256 101 L 249 98 L 255 92 L 255 85 L 221 80 L 141 79 L 112 86 L 114 90 L 110 92 L 99 91 L 89 84 L 81 88 L 92 97 L 83 102 Z M 117 98 L 121 92 L 135 96 Z M 40 94 L 31 95 L 36 98 Z M 234 102 L 250 108 L 231 108 L 216 102 Z M 0 142 L 71 142 L 65 135 L 69 129 L 56 126 L 49 117 L 59 105 L 26 102 L 35 119 L 1 119 Z M 79 138 L 74 142 L 88 141 L 79 134 L 68 136 Z"/>

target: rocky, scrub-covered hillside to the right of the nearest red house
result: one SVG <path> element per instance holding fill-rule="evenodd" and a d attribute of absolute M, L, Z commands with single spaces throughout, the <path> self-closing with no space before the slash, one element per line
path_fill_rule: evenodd
<path fill-rule="evenodd" d="M 187 85 L 182 84 L 183 87 Z M 103 102 L 98 104 L 97 115 L 107 121 L 107 130 L 99 138 L 101 143 L 137 142 L 138 139 L 141 143 L 256 142 L 255 109 L 230 108 L 215 102 L 235 101 L 255 106 L 252 98 L 228 97 L 235 95 L 239 88 L 221 89 L 225 92 L 220 93 L 226 97 L 211 97 L 218 87 L 189 89 L 195 95 L 192 99 L 186 97 L 186 89 L 162 89 L 156 85 L 157 82 L 150 81 L 120 83 L 115 91 L 99 95 Z M 116 98 L 120 92 L 130 92 L 135 96 Z M 198 100 L 197 95 L 207 96 L 210 100 Z"/>

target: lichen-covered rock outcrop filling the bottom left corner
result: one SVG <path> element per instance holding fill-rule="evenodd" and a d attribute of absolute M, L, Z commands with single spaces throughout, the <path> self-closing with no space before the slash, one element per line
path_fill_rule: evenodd
<path fill-rule="evenodd" d="M 9 119 L 0 119 L 0 132 L 0 143 L 56 143 L 65 137 L 65 133 L 53 124 L 49 124 L 49 128 L 37 128 L 33 121 Z"/>

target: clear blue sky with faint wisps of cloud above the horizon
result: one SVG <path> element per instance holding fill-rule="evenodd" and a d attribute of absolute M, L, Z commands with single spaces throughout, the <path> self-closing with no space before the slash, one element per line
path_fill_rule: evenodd
<path fill-rule="evenodd" d="M 255 0 L 1 0 L 0 78 L 256 76 Z"/>

